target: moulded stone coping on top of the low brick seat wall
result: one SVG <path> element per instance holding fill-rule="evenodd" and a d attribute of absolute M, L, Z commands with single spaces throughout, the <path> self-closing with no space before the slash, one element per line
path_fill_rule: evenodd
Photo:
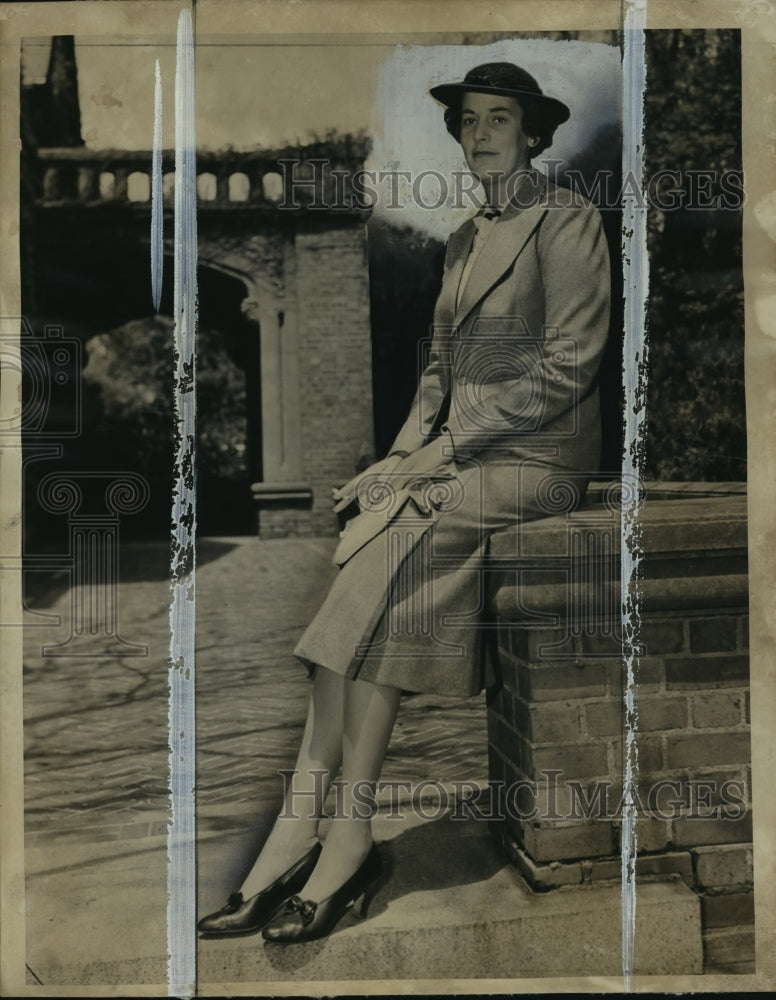
<path fill-rule="evenodd" d="M 644 483 L 635 543 L 642 610 L 748 605 L 747 498 L 741 483 Z M 495 533 L 490 592 L 495 613 L 536 625 L 536 613 L 595 606 L 620 615 L 619 483 L 596 482 L 571 514 Z M 605 501 L 604 499 L 605 498 Z M 526 604 L 531 611 L 526 616 Z M 558 624 L 558 623 L 556 623 Z"/>

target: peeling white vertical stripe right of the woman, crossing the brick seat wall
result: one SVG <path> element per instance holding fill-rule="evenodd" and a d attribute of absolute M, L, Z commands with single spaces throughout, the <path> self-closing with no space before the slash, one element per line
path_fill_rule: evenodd
<path fill-rule="evenodd" d="M 644 172 L 645 28 L 647 0 L 626 0 L 623 38 L 623 177 L 634 178 L 638 192 Z M 636 194 L 638 194 L 636 192 Z M 623 731 L 623 809 L 620 831 L 622 974 L 630 990 L 636 936 L 636 665 L 639 637 L 640 479 L 646 435 L 647 338 L 649 294 L 646 208 L 631 196 L 624 199 L 622 222 L 625 331 L 623 389 L 625 441 L 622 459 L 621 601 L 625 666 Z"/>

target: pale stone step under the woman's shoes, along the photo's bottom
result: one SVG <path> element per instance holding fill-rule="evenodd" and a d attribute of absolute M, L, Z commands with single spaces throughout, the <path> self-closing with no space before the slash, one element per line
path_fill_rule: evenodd
<path fill-rule="evenodd" d="M 504 864 L 485 822 L 449 811 L 431 819 L 432 805 L 423 806 L 425 817 L 401 808 L 375 818 L 390 878 L 365 920 L 347 914 L 330 937 L 299 945 L 260 935 L 199 940 L 200 994 L 238 995 L 261 983 L 273 984 L 272 993 L 283 982 L 298 990 L 337 981 L 621 974 L 618 884 L 535 893 Z M 224 817 L 222 830 L 211 824 L 200 840 L 200 913 L 239 884 L 257 837 L 248 818 L 232 816 L 237 827 Z M 61 845 L 61 853 L 46 844 L 28 851 L 28 863 L 27 962 L 40 982 L 163 986 L 164 837 Z M 702 971 L 698 898 L 678 879 L 640 883 L 635 973 Z"/>

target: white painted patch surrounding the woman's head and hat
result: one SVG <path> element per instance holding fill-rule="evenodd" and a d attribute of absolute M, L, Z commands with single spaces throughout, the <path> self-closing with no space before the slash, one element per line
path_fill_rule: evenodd
<path fill-rule="evenodd" d="M 456 198 L 456 190 L 462 186 L 471 190 L 474 182 L 461 179 L 466 173 L 463 152 L 447 132 L 443 105 L 428 91 L 440 83 L 463 80 L 470 69 L 487 62 L 522 66 L 545 94 L 571 109 L 571 118 L 559 126 L 550 148 L 533 161 L 540 170 L 546 159 L 568 164 L 601 130 L 619 126 L 622 81 L 616 46 L 534 38 L 489 45 L 397 46 L 380 69 L 372 121 L 374 147 L 366 166 L 378 172 L 408 171 L 412 180 L 394 182 L 398 197 L 392 197 L 388 182 L 376 185 L 375 218 L 446 238 L 472 214 L 472 201 L 481 200 L 482 188 Z M 463 206 L 456 207 L 456 200 Z"/>

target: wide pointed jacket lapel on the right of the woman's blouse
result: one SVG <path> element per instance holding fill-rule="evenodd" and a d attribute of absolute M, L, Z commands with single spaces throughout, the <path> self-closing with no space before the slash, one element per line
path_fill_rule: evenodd
<path fill-rule="evenodd" d="M 546 211 L 545 199 L 542 198 L 545 190 L 546 179 L 543 175 L 531 173 L 521 178 L 515 198 L 507 205 L 501 218 L 494 225 L 488 242 L 471 269 L 458 309 L 455 310 L 454 326 L 460 326 L 474 306 L 501 280 L 504 272 L 520 254 Z M 521 208 L 521 204 L 528 204 L 529 207 Z M 460 275 L 459 270 L 459 279 Z M 456 283 L 455 288 L 457 287 Z M 455 292 L 453 300 L 454 298 Z"/>

